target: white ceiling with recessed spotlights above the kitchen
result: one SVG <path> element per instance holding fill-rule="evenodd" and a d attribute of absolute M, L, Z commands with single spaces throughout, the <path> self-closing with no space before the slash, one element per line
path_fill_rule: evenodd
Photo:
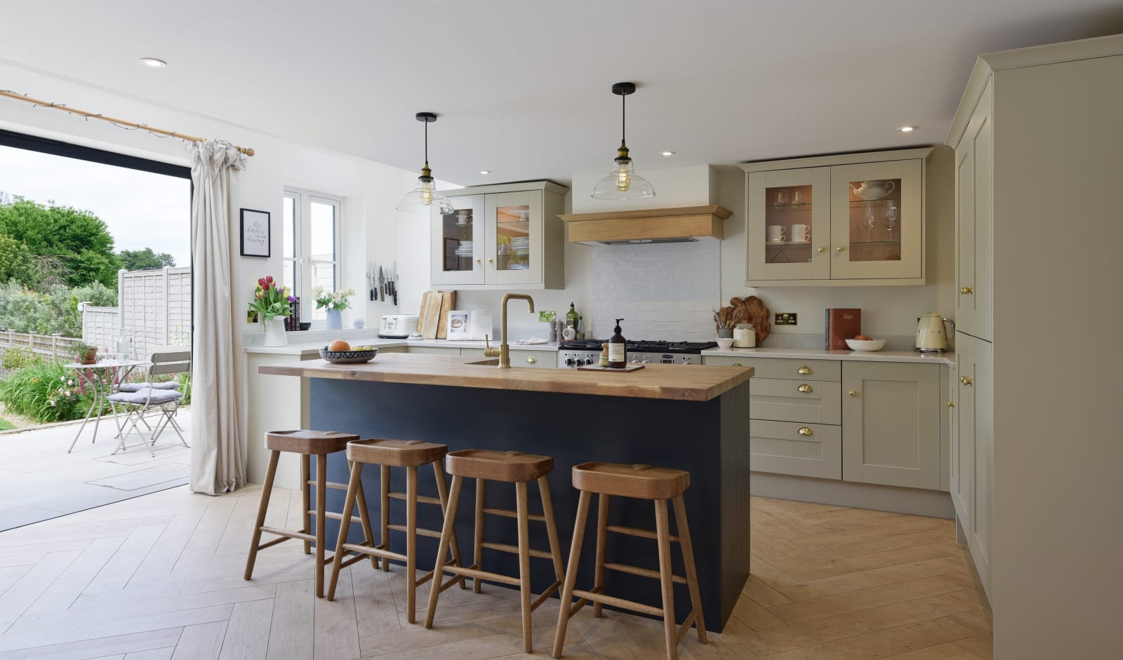
<path fill-rule="evenodd" d="M 1119 0 L 4 4 L 0 58 L 407 169 L 437 112 L 464 185 L 608 173 L 617 81 L 642 173 L 939 143 L 977 54 L 1123 31 Z"/>

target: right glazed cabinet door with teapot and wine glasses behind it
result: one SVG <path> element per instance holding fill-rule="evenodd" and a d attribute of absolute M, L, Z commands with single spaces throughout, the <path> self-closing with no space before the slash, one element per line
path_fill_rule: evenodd
<path fill-rule="evenodd" d="M 831 167 L 831 279 L 920 278 L 923 212 L 920 159 Z"/>

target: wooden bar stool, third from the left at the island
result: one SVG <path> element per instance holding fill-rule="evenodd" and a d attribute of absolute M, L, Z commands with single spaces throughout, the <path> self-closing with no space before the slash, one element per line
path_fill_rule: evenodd
<path fill-rule="evenodd" d="M 442 576 L 446 571 L 456 576 L 469 577 L 474 580 L 474 590 L 480 593 L 480 580 L 494 580 L 504 585 L 519 587 L 522 598 L 522 648 L 528 653 L 532 649 L 530 613 L 556 592 L 564 580 L 562 553 L 558 550 L 558 531 L 554 520 L 554 505 L 550 501 L 550 485 L 547 475 L 554 469 L 554 459 L 548 456 L 535 456 L 522 453 L 521 451 L 492 451 L 487 449 L 466 449 L 453 451 L 445 457 L 445 466 L 453 475 L 453 493 L 448 501 L 448 511 L 445 513 L 445 525 L 440 534 L 440 548 L 437 551 L 437 567 L 433 574 Z M 445 563 L 445 553 L 449 542 L 454 538 L 456 523 L 456 505 L 460 497 L 460 485 L 464 479 L 474 478 L 476 480 L 476 520 L 475 520 L 475 553 L 472 566 L 456 567 Z M 487 508 L 484 506 L 484 494 L 486 482 L 505 482 L 514 484 L 515 511 L 508 508 Z M 542 497 L 542 514 L 531 514 L 527 512 L 527 483 L 538 482 L 538 491 Z M 509 546 L 506 543 L 491 543 L 483 540 L 483 517 L 484 514 L 502 515 L 518 520 L 519 544 Z M 528 521 L 536 520 L 546 523 L 546 533 L 549 535 L 550 551 L 533 550 L 530 548 Z M 481 570 L 483 549 L 500 550 L 519 556 L 519 577 L 511 577 L 495 572 Z M 538 557 L 554 560 L 554 574 L 557 580 L 549 586 L 538 598 L 530 602 L 530 558 Z M 439 581 L 439 577 L 435 578 Z M 433 583 L 435 585 L 437 583 Z M 437 596 L 444 587 L 432 588 L 429 592 L 429 611 L 426 614 L 424 626 L 432 627 L 433 614 L 437 612 Z"/>

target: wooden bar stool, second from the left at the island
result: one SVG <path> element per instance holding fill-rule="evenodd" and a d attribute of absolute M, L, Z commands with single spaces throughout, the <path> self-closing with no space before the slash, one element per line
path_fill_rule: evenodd
<path fill-rule="evenodd" d="M 350 462 L 351 473 L 350 482 L 347 485 L 347 498 L 344 502 L 344 519 L 339 525 L 339 540 L 336 542 L 335 561 L 331 565 L 331 583 L 328 585 L 328 601 L 334 601 L 336 597 L 336 583 L 339 579 L 339 569 L 343 567 L 360 561 L 363 556 L 368 554 L 372 558 L 382 558 L 382 569 L 390 570 L 390 562 L 387 560 L 396 559 L 405 562 L 407 621 L 410 623 L 414 622 L 413 611 L 417 604 L 417 588 L 430 580 L 433 575 L 439 575 L 430 571 L 422 576 L 421 579 L 418 579 L 418 535 L 433 539 L 440 538 L 440 532 L 418 528 L 418 503 L 439 504 L 441 513 L 445 513 L 448 506 L 448 486 L 445 483 L 445 470 L 440 466 L 440 459 L 446 453 L 448 453 L 447 444 L 435 444 L 420 440 L 356 440 L 347 443 L 347 460 Z M 372 544 L 347 542 L 347 531 L 350 528 L 348 519 L 351 515 L 355 499 L 362 499 L 363 497 L 363 466 L 367 464 L 382 467 L 382 538 L 381 543 L 373 547 Z M 432 465 L 433 476 L 437 479 L 438 497 L 418 495 L 418 468 L 423 465 Z M 405 493 L 390 492 L 391 467 L 405 468 Z M 404 525 L 390 524 L 391 498 L 405 501 Z M 364 507 L 365 503 L 360 503 L 359 511 Z M 405 532 L 405 554 L 390 550 L 391 531 Z M 456 541 L 455 532 L 453 533 L 450 546 L 453 563 L 455 566 L 464 566 L 460 561 L 460 547 Z M 442 548 L 441 551 L 447 550 L 448 548 Z M 345 561 L 343 558 L 345 551 L 357 552 L 359 554 Z M 447 589 L 455 583 L 459 583 L 462 589 L 467 588 L 464 585 L 463 577 L 451 580 L 440 588 Z M 438 584 L 439 580 L 433 583 L 433 585 Z"/>

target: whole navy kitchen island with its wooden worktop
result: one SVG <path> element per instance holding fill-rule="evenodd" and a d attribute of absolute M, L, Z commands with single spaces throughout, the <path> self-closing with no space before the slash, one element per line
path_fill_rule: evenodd
<path fill-rule="evenodd" d="M 752 369 L 727 366 L 648 365 L 632 373 L 569 369 L 497 369 L 494 360 L 429 355 L 380 355 L 363 365 L 322 360 L 263 365 L 262 374 L 309 379 L 312 429 L 357 433 L 363 438 L 426 440 L 457 449 L 520 450 L 554 457 L 550 487 L 563 553 L 568 553 L 576 517 L 577 491 L 570 469 L 590 460 L 650 464 L 690 470 L 686 510 L 697 565 L 706 626 L 724 626 L 749 574 L 749 378 Z M 250 441 L 254 441 L 253 439 Z M 314 460 L 314 459 L 313 459 Z M 401 471 L 401 470 L 395 470 Z M 423 474 L 423 473 L 422 473 Z M 328 458 L 328 479 L 347 482 L 347 461 Z M 404 491 L 404 474 L 392 486 Z M 457 535 L 471 557 L 474 482 L 465 483 L 457 511 Z M 378 470 L 364 471 L 372 516 L 378 517 Z M 471 491 L 471 493 L 469 493 Z M 531 488 L 531 512 L 540 512 Z M 421 495 L 436 496 L 432 479 L 419 479 Z M 329 492 L 328 510 L 343 508 L 343 492 Z M 487 506 L 514 508 L 514 488 L 493 484 Z M 392 501 L 391 516 L 404 520 L 404 503 Z M 649 502 L 613 498 L 610 524 L 655 529 Z M 419 526 L 439 530 L 440 511 L 422 505 Z M 351 540 L 362 531 L 351 528 Z M 485 516 L 485 540 L 513 542 L 514 520 Z M 540 529 L 541 528 L 541 529 Z M 329 537 L 338 523 L 328 521 Z M 531 546 L 547 549 L 546 530 L 531 524 Z M 594 533 L 595 530 L 592 532 Z M 655 541 L 611 534 L 609 561 L 658 568 Z M 578 588 L 593 579 L 595 542 L 582 548 Z M 421 537 L 421 557 L 436 561 L 436 539 Z M 391 547 L 403 551 L 403 534 L 391 533 Z M 682 574 L 676 550 L 675 574 Z M 430 560 L 420 562 L 421 567 Z M 484 550 L 491 570 L 518 575 L 518 558 Z M 549 561 L 532 560 L 532 588 L 554 581 Z M 497 588 L 491 587 L 491 588 Z M 608 571 L 605 592 L 659 606 L 659 581 Z M 691 611 L 685 588 L 675 590 L 679 621 Z"/>

